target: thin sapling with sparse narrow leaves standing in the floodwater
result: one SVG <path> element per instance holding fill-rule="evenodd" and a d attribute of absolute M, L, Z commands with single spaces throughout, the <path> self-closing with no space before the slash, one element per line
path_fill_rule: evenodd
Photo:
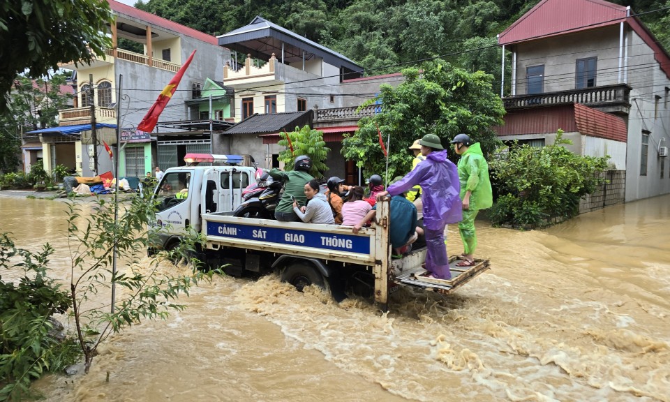
<path fill-rule="evenodd" d="M 162 271 L 158 259 L 147 262 L 140 258 L 151 244 L 158 242 L 161 228 L 150 227 L 155 221 L 154 202 L 147 197 L 128 198 L 119 205 L 119 218 L 114 223 L 113 202 L 98 199 L 93 212 L 82 213 L 80 204 L 68 204 L 68 244 L 72 256 L 70 298 L 75 320 L 75 337 L 84 353 L 84 368 L 89 368 L 98 346 L 124 327 L 144 319 L 165 320 L 171 310 L 181 311 L 179 295 L 200 281 L 210 281 L 218 271 L 198 271 L 195 254 L 202 239 L 195 232 L 185 235 L 169 256 L 173 260 L 186 258 L 192 269 L 179 274 L 173 269 Z M 87 206 L 86 210 L 89 209 Z M 124 258 L 124 270 L 114 270 L 114 252 Z M 114 286 L 123 292 L 113 303 L 113 310 L 83 308 L 91 297 L 103 288 Z"/>

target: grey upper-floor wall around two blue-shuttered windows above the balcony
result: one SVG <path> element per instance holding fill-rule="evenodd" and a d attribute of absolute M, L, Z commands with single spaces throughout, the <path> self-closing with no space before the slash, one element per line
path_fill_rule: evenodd
<path fill-rule="evenodd" d="M 618 83 L 618 25 L 533 40 L 516 45 L 515 50 L 515 95 L 527 93 L 526 68 L 539 65 L 544 65 L 544 92 L 575 89 L 576 61 L 588 57 L 597 57 L 597 86 Z"/>

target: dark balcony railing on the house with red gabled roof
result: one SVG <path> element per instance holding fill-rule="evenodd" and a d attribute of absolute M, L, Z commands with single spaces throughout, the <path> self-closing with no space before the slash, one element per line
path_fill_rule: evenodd
<path fill-rule="evenodd" d="M 604 85 L 545 94 L 509 96 L 502 98 L 506 110 L 560 103 L 581 103 L 590 107 L 630 107 L 630 87 L 627 84 Z"/>

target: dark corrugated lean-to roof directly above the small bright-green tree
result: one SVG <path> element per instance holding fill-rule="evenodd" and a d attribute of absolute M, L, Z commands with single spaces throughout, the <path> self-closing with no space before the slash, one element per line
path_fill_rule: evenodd
<path fill-rule="evenodd" d="M 305 112 L 283 112 L 269 114 L 252 114 L 225 131 L 223 134 L 268 134 L 281 131 L 294 131 L 296 126 L 312 123 L 312 110 Z"/>

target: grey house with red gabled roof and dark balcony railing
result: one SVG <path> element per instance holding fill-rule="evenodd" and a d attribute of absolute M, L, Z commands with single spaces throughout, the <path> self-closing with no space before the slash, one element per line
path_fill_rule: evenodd
<path fill-rule="evenodd" d="M 582 211 L 670 192 L 670 57 L 630 7 L 542 0 L 498 43 L 512 61 L 500 139 L 551 144 L 561 128 L 576 154 L 610 156 Z"/>

